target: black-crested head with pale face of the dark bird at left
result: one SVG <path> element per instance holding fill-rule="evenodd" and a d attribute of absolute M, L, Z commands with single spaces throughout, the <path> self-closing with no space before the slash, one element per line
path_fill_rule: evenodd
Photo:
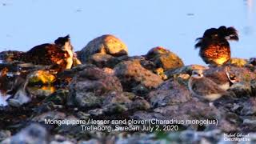
<path fill-rule="evenodd" d="M 66 35 L 66 37 L 59 37 L 54 41 L 55 45 L 59 46 L 62 50 L 72 50 L 73 47 L 70 42 L 70 35 Z"/>

